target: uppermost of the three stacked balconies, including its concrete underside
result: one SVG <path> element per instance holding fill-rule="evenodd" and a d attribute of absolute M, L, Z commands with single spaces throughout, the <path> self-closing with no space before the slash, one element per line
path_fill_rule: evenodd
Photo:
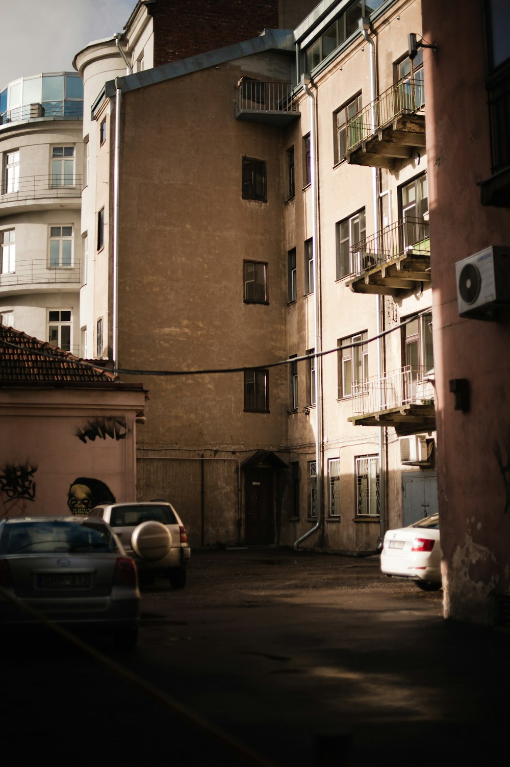
<path fill-rule="evenodd" d="M 347 123 L 347 163 L 393 170 L 425 151 L 424 106 L 421 78 L 404 77 L 388 88 Z"/>

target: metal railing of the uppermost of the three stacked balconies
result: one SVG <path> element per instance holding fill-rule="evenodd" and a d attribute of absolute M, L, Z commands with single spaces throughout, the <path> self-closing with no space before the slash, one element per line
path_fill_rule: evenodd
<path fill-rule="evenodd" d="M 425 106 L 422 77 L 403 77 L 375 101 L 360 110 L 347 123 L 347 152 L 366 141 L 377 130 L 404 114 L 413 114 Z"/>

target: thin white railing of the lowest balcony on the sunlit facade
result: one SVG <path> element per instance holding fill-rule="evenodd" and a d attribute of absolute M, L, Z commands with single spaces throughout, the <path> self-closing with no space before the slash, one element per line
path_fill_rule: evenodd
<path fill-rule="evenodd" d="M 431 405 L 434 387 L 429 380 L 432 370 L 406 365 L 383 376 L 356 381 L 352 388 L 352 412 L 380 413 L 403 405 Z M 432 379 L 433 380 L 433 379 Z"/>

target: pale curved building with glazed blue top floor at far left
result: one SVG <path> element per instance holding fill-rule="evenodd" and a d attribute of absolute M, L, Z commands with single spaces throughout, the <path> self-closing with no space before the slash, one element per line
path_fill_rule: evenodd
<path fill-rule="evenodd" d="M 81 354 L 83 84 L 38 74 L 0 91 L 0 322 Z"/>

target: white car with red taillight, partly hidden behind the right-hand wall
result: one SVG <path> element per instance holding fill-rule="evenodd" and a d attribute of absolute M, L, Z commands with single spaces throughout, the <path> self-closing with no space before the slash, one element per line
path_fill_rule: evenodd
<path fill-rule="evenodd" d="M 439 515 L 425 517 L 409 527 L 388 530 L 380 569 L 390 578 L 408 578 L 425 591 L 441 588 Z"/>

